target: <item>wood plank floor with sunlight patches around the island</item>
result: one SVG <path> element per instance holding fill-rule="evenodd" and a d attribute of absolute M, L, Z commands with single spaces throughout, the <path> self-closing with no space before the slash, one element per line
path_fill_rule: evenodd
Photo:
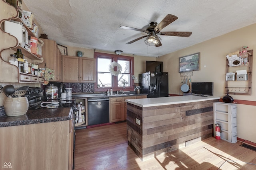
<path fill-rule="evenodd" d="M 210 137 L 142 162 L 128 146 L 126 122 L 79 129 L 75 170 L 255 170 L 244 162 L 256 164 L 256 152 L 240 144 Z"/>

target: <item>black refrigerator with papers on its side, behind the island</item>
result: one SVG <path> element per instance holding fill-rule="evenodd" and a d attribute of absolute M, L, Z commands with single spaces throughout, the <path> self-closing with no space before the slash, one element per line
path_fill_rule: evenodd
<path fill-rule="evenodd" d="M 140 93 L 148 94 L 147 98 L 168 97 L 168 72 L 145 72 L 139 74 Z"/>

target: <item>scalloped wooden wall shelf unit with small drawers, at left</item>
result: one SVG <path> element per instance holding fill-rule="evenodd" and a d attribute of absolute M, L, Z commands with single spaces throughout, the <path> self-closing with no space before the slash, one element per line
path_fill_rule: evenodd
<path fill-rule="evenodd" d="M 38 64 L 42 63 L 43 59 L 40 59 L 36 55 L 30 53 L 30 51 L 26 50 L 25 48 L 21 47 L 18 44 L 18 40 L 10 35 L 9 33 L 6 33 L 3 30 L 3 23 L 5 20 L 15 20 L 22 22 L 20 18 L 18 18 L 18 11 L 14 6 L 10 6 L 7 2 L 0 1 L 0 10 L 6 11 L 3 12 L 0 16 L 0 35 L 1 40 L 5 43 L 0 43 L 0 51 L 5 51 L 1 53 L 0 57 L 0 67 L 3 70 L 2 74 L 0 74 L 0 82 L 12 82 L 12 83 L 43 83 L 43 78 L 36 75 L 26 74 L 26 73 L 20 73 L 19 68 L 15 65 L 12 65 L 8 63 L 8 57 L 9 49 L 13 51 L 17 51 L 17 49 L 21 49 L 22 54 L 28 59 L 32 60 L 32 63 Z M 28 35 L 34 36 L 32 31 L 28 28 L 26 28 L 28 31 Z M 35 37 L 35 36 L 34 36 Z"/>

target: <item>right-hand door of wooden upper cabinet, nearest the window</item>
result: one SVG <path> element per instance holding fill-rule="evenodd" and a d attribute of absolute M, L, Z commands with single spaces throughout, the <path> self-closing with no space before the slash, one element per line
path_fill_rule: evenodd
<path fill-rule="evenodd" d="M 95 59 L 80 57 L 80 82 L 95 82 Z"/>

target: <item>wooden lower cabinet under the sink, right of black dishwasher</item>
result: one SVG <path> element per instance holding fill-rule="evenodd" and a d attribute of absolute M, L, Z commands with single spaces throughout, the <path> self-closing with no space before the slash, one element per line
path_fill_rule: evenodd
<path fill-rule="evenodd" d="M 109 122 L 112 123 L 112 122 L 126 120 L 126 114 L 127 114 L 126 106 L 127 106 L 127 104 L 126 104 L 125 100 L 128 100 L 128 99 L 142 99 L 142 98 L 147 98 L 147 96 L 142 95 L 142 96 L 127 96 L 127 97 L 110 98 Z"/>

